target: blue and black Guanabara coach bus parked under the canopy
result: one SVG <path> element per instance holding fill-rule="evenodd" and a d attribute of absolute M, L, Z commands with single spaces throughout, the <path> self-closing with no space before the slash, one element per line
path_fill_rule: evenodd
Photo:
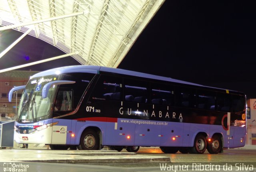
<path fill-rule="evenodd" d="M 9 101 L 18 90 L 18 143 L 194 154 L 245 145 L 246 95 L 238 91 L 90 65 L 39 72 Z"/>

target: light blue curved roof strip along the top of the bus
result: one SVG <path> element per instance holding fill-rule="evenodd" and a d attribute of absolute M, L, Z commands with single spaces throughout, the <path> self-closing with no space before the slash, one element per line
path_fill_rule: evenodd
<path fill-rule="evenodd" d="M 208 86 L 204 86 L 204 85 L 200 85 L 200 84 L 196 84 L 196 83 L 173 79 L 170 77 L 162 77 L 162 76 L 158 76 L 158 75 L 151 75 L 151 74 L 147 74 L 147 73 L 129 71 L 129 70 L 125 70 L 125 69 L 117 69 L 117 68 L 93 66 L 93 65 L 73 65 L 73 66 L 58 67 L 58 68 L 49 69 L 46 71 L 36 73 L 32 77 L 30 77 L 30 79 L 35 78 L 35 77 L 56 75 L 56 74 L 61 74 L 61 73 L 95 73 L 96 74 L 96 73 L 100 73 L 101 71 L 102 72 L 110 72 L 110 73 L 118 73 L 118 74 L 123 74 L 123 75 L 131 75 L 131 76 L 143 77 L 143 78 L 149 78 L 149 79 L 157 79 L 157 80 L 161 80 L 161 81 L 170 81 L 170 82 L 182 83 L 182 84 L 188 84 L 188 85 L 196 85 L 196 86 L 201 86 L 201 87 L 208 87 Z M 221 88 L 216 88 L 216 87 L 208 87 L 208 88 L 221 89 Z M 225 89 L 222 89 L 222 90 L 225 90 Z"/>

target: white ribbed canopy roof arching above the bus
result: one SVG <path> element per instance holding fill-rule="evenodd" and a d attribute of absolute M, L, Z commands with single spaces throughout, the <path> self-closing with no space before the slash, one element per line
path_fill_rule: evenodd
<path fill-rule="evenodd" d="M 44 40 L 82 65 L 117 67 L 163 3 L 0 0 L 0 31 L 15 29 Z"/>

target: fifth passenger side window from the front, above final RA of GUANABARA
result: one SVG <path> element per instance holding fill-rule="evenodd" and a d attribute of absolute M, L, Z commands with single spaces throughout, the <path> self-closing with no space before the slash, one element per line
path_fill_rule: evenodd
<path fill-rule="evenodd" d="M 198 90 L 198 109 L 215 110 L 215 92 Z"/>

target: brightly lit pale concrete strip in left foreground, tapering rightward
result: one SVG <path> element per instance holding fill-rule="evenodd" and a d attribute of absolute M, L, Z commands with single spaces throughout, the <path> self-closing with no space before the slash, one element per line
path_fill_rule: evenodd
<path fill-rule="evenodd" d="M 2 149 L 0 162 L 170 162 L 165 156 L 138 155 L 115 150 Z"/>

